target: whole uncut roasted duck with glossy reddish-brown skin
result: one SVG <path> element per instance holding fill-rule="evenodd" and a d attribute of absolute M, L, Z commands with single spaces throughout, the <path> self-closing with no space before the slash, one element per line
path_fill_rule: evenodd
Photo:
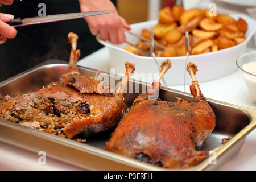
<path fill-rule="evenodd" d="M 205 100 L 196 80 L 197 67 L 188 63 L 190 86 L 196 102 L 177 98 L 177 102 L 159 101 L 159 80 L 170 68 L 170 60 L 162 63 L 159 79 L 150 92 L 140 94 L 119 122 L 105 149 L 120 155 L 166 168 L 189 168 L 209 156 L 196 151 L 215 126 L 215 115 Z M 154 89 L 153 89 L 154 88 Z"/>

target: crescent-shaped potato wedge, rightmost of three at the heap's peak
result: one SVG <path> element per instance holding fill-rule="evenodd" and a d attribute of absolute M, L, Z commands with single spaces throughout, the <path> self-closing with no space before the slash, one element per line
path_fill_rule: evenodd
<path fill-rule="evenodd" d="M 205 16 L 205 13 L 203 10 L 197 9 L 197 8 L 186 10 L 180 16 L 180 24 L 183 25 L 188 22 L 191 22 L 191 20 L 199 16 Z"/>

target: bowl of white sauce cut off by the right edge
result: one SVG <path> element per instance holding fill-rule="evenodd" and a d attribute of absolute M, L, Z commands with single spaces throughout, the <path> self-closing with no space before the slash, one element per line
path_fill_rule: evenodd
<path fill-rule="evenodd" d="M 239 56 L 237 66 L 242 71 L 251 99 L 256 104 L 256 51 Z"/>

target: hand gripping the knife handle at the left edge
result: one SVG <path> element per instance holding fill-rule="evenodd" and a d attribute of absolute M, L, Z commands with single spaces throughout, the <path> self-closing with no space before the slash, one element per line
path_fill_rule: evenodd
<path fill-rule="evenodd" d="M 0 0 L 0 6 L 3 5 L 11 5 L 13 3 L 13 0 Z M 13 39 L 17 31 L 14 27 L 10 26 L 9 24 L 5 22 L 10 22 L 13 20 L 14 16 L 9 15 L 9 14 L 3 14 L 0 13 L 0 39 L 2 38 L 1 42 L 4 43 L 6 42 L 7 38 L 8 39 Z"/>

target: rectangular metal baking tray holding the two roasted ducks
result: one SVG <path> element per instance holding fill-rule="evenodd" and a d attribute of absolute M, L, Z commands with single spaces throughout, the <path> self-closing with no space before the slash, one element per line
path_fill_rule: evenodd
<path fill-rule="evenodd" d="M 50 82 L 59 81 L 63 73 L 67 71 L 68 65 L 63 61 L 50 60 L 17 76 L 9 78 L 0 83 L 0 95 L 28 93 L 47 86 Z M 97 70 L 79 67 L 83 75 L 94 76 Z M 171 70 L 170 70 L 171 71 Z M 108 79 L 120 77 L 101 72 Z M 105 81 L 106 81 L 105 80 Z M 136 88 L 146 85 L 138 81 L 130 81 Z M 133 88 L 133 89 L 134 89 Z M 129 88 L 127 88 L 129 89 Z M 214 88 L 213 88 L 214 89 Z M 125 101 L 128 107 L 139 93 L 126 93 Z M 181 97 L 193 101 L 191 94 L 179 92 L 169 88 L 161 88 L 159 96 L 162 100 L 175 101 L 174 97 Z M 209 159 L 186 170 L 211 170 L 221 166 L 230 156 L 240 150 L 245 137 L 256 127 L 256 110 L 246 107 L 227 104 L 224 102 L 208 99 L 216 114 L 216 127 L 213 133 L 205 140 L 200 150 L 213 150 L 221 146 L 221 139 L 231 139 L 216 150 L 216 163 L 210 164 Z M 86 143 L 79 143 L 71 139 L 61 138 L 56 135 L 44 133 L 39 130 L 30 129 L 14 122 L 0 119 L 0 140 L 7 144 L 25 148 L 36 152 L 45 151 L 46 155 L 84 169 L 93 170 L 171 170 L 139 162 L 138 160 L 126 158 L 104 150 L 105 143 L 109 140 L 113 131 L 105 131 L 87 138 Z"/>

